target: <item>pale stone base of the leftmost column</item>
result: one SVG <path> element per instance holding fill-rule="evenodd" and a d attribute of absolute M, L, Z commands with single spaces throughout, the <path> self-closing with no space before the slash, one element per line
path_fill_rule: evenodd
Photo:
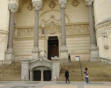
<path fill-rule="evenodd" d="M 11 64 L 11 62 L 13 60 L 14 60 L 13 50 L 12 49 L 8 49 L 6 51 L 5 63 L 6 64 Z"/>

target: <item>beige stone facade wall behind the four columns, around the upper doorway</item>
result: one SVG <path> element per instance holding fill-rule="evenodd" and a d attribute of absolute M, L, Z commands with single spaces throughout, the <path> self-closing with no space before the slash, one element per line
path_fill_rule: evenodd
<path fill-rule="evenodd" d="M 21 1 L 20 3 L 25 2 Z M 34 13 L 29 3 L 31 2 L 26 2 L 23 6 L 20 5 L 15 17 L 14 51 L 15 58 L 17 59 L 32 58 Z M 49 36 L 57 36 L 59 39 L 59 47 L 61 47 L 60 7 L 57 0 L 43 1 L 43 3 L 39 14 L 39 49 L 40 51 L 43 49 L 47 52 Z M 32 9 L 29 10 L 29 6 Z M 85 2 L 83 0 L 77 0 L 75 2 L 73 0 L 68 1 L 65 9 L 65 19 L 66 43 L 68 53 L 71 53 L 72 60 L 78 55 L 81 56 L 83 60 L 89 59 L 90 37 L 88 10 Z"/>

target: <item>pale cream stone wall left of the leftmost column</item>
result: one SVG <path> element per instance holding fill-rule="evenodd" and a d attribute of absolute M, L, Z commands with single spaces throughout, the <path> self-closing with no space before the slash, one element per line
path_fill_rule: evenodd
<path fill-rule="evenodd" d="M 8 0 L 0 0 L 0 60 L 5 58 L 9 26 Z"/>

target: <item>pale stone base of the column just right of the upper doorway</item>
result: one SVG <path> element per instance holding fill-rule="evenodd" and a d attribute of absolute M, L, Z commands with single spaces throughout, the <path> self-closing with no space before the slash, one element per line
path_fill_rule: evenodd
<path fill-rule="evenodd" d="M 60 49 L 60 59 L 68 61 L 68 49 L 66 46 L 62 46 Z"/>

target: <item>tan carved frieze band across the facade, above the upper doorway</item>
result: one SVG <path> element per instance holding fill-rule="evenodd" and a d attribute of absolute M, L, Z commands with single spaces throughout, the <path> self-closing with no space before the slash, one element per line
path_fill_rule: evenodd
<path fill-rule="evenodd" d="M 39 37 L 43 35 L 48 34 L 60 34 L 60 25 L 57 25 L 55 23 L 50 23 L 49 25 L 43 27 L 39 27 Z M 72 36 L 72 35 L 89 35 L 89 25 L 88 24 L 70 24 L 66 25 L 66 35 Z M 16 27 L 14 32 L 15 38 L 32 38 L 34 36 L 33 34 L 33 27 Z"/>

